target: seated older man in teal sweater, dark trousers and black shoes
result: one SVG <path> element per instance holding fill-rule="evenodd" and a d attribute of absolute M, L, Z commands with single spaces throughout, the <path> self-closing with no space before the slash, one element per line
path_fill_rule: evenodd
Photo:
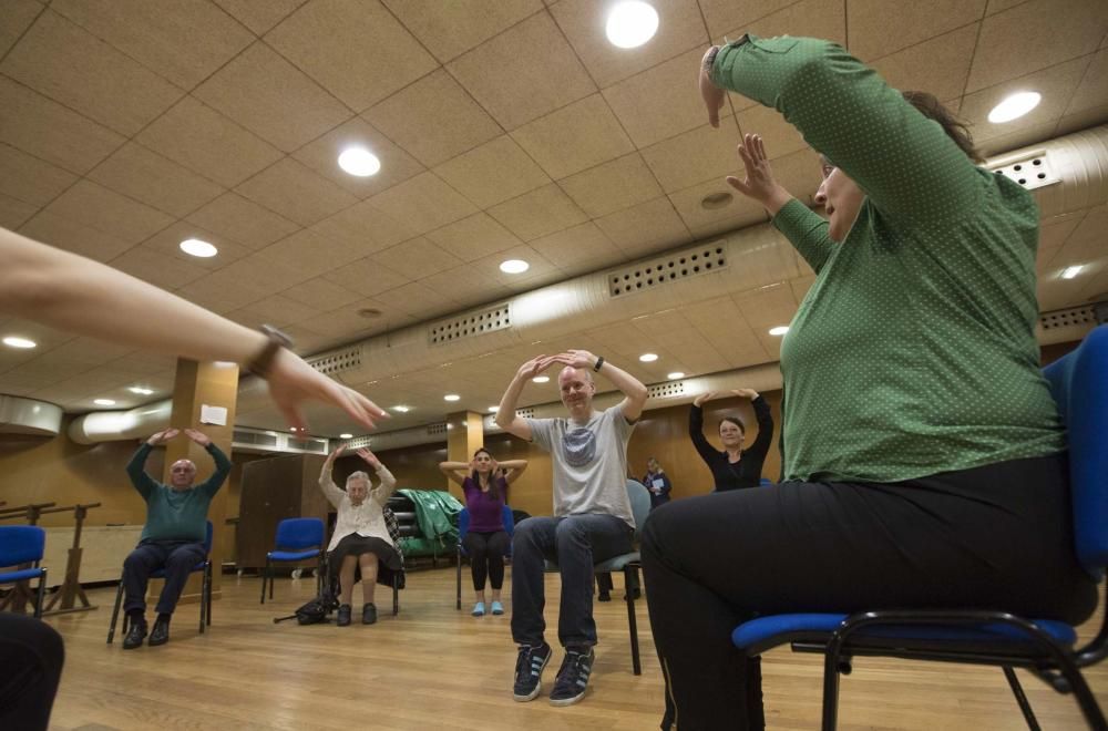
<path fill-rule="evenodd" d="M 170 641 L 170 618 L 177 605 L 188 574 L 204 560 L 207 550 L 207 511 L 212 498 L 230 473 L 230 460 L 212 440 L 194 429 L 185 434 L 212 455 L 215 472 L 205 482 L 194 485 L 196 465 L 192 460 L 177 460 L 170 467 L 170 484 L 163 485 L 144 470 L 152 449 L 181 433 L 167 429 L 146 440 L 127 464 L 127 475 L 146 501 L 146 525 L 138 545 L 123 562 L 123 587 L 126 600 L 123 610 L 131 629 L 123 639 L 123 649 L 132 650 L 146 637 L 146 583 L 152 572 L 165 569 L 165 587 L 157 600 L 157 619 L 150 634 L 151 647 Z"/>

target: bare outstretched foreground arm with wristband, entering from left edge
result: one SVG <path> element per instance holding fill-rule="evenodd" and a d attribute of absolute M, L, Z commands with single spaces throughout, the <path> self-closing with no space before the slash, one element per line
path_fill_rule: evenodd
<path fill-rule="evenodd" d="M 255 330 L 98 261 L 0 228 L 0 312 L 111 342 L 198 361 L 249 364 L 268 344 Z M 172 323 L 172 327 L 166 327 Z M 301 404 L 338 406 L 369 429 L 388 414 L 281 349 L 267 373 L 269 395 L 297 430 Z"/>

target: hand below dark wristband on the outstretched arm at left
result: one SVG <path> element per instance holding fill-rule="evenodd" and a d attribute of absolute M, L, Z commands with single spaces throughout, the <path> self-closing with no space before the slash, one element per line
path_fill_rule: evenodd
<path fill-rule="evenodd" d="M 388 419 L 389 414 L 376 403 L 353 389 L 324 375 L 308 366 L 299 356 L 281 350 L 274 359 L 269 371 L 269 395 L 274 403 L 298 432 L 306 432 L 300 404 L 309 399 L 322 401 L 346 411 L 359 424 L 373 429 L 375 420 Z"/>

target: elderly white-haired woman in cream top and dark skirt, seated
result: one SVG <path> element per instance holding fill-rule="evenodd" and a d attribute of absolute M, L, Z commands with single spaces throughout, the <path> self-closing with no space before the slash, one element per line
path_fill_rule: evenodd
<path fill-rule="evenodd" d="M 372 625 L 377 621 L 373 589 L 378 568 L 382 565 L 394 572 L 401 568 L 399 548 L 393 545 L 384 523 L 384 506 L 397 488 L 397 481 L 372 452 L 363 449 L 357 454 L 373 469 L 380 483 L 372 487 L 369 475 L 359 471 L 347 477 L 346 491 L 339 490 L 331 480 L 331 469 L 343 449 L 340 446 L 327 456 L 319 475 L 319 488 L 338 511 L 335 534 L 327 547 L 328 565 L 331 575 L 337 573 L 339 576 L 339 627 L 350 624 L 350 600 L 358 568 L 361 569 L 363 600 L 361 624 Z"/>

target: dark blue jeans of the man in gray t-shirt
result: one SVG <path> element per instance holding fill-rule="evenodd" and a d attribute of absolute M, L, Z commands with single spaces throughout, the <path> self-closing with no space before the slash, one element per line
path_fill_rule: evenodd
<path fill-rule="evenodd" d="M 541 645 L 546 631 L 544 559 L 557 562 L 562 603 L 557 635 L 563 646 L 596 645 L 593 564 L 632 550 L 633 528 L 614 515 L 531 517 L 512 536 L 512 639 Z"/>

